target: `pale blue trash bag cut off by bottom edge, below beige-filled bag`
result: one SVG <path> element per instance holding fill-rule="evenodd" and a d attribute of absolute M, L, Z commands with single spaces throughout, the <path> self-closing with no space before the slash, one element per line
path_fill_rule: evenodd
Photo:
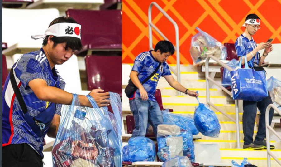
<path fill-rule="evenodd" d="M 165 161 L 162 167 L 193 167 L 188 157 L 175 157 Z"/>

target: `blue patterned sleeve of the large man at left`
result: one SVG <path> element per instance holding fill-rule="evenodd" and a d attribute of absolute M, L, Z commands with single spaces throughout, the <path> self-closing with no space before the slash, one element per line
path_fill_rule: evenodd
<path fill-rule="evenodd" d="M 44 65 L 34 58 L 21 57 L 20 60 L 18 60 L 15 71 L 20 71 L 19 78 L 24 88 L 34 79 L 43 79 L 47 82 L 44 75 Z"/>

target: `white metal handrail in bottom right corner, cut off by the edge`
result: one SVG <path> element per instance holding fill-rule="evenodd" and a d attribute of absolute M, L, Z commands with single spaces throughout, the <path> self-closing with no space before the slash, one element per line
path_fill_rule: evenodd
<path fill-rule="evenodd" d="M 279 140 L 281 140 L 281 136 L 276 133 L 276 131 L 269 125 L 269 111 L 270 109 L 273 108 L 275 111 L 278 112 L 279 115 L 281 115 L 281 111 L 274 106 L 273 104 L 270 104 L 266 108 L 265 112 L 265 131 L 266 131 L 266 152 L 267 152 L 267 166 L 271 167 L 271 161 L 270 161 L 270 156 L 281 166 L 281 161 L 278 160 L 278 158 L 270 151 L 270 136 L 269 136 L 269 130 L 276 135 Z"/>

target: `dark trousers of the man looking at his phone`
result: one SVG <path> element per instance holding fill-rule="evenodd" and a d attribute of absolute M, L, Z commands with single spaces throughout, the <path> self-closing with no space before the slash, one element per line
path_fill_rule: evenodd
<path fill-rule="evenodd" d="M 255 140 L 261 141 L 266 138 L 265 133 L 265 111 L 269 104 L 272 104 L 271 97 L 268 93 L 268 97 L 264 98 L 259 102 L 255 101 L 243 101 L 243 133 L 244 133 L 244 145 L 253 143 L 255 118 L 257 114 L 257 107 L 260 110 L 260 121 L 258 132 Z M 271 124 L 273 118 L 274 109 L 271 108 L 269 111 L 269 124 Z"/>

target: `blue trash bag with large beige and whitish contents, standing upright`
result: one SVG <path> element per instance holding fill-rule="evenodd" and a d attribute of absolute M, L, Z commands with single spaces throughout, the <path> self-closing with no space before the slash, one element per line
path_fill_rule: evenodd
<path fill-rule="evenodd" d="M 166 161 L 176 156 L 187 156 L 195 162 L 193 135 L 177 125 L 158 125 L 158 158 Z"/>

